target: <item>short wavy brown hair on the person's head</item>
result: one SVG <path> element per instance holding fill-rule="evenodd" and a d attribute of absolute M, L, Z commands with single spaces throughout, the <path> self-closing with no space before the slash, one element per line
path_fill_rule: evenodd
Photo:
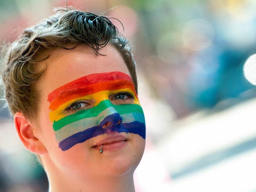
<path fill-rule="evenodd" d="M 67 48 L 68 44 L 73 44 L 73 48 L 86 44 L 97 56 L 99 50 L 108 43 L 122 55 L 138 92 L 136 63 L 130 44 L 105 16 L 72 8 L 58 8 L 50 18 L 26 28 L 15 42 L 2 50 L 2 82 L 12 114 L 21 111 L 27 118 L 37 114 L 35 82 L 42 78 L 46 68 L 36 71 L 36 64 L 49 57 L 38 59 L 42 57 L 42 52 L 54 48 L 70 49 Z"/>

